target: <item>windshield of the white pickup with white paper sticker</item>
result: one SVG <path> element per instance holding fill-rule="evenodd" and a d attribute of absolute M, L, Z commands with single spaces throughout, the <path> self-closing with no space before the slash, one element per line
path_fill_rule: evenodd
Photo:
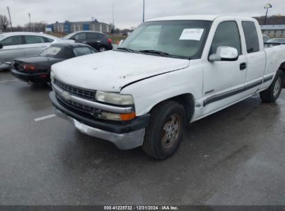
<path fill-rule="evenodd" d="M 135 53 L 197 59 L 202 55 L 210 27 L 211 22 L 197 20 L 145 22 L 120 48 Z"/>

